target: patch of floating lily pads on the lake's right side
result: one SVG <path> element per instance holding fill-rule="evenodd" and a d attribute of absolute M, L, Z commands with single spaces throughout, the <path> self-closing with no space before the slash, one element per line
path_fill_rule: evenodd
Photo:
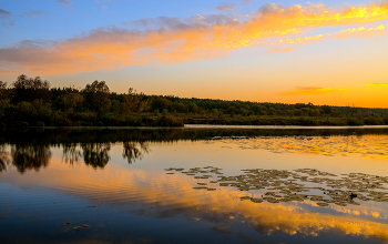
<path fill-rule="evenodd" d="M 244 173 L 235 176 L 222 175 L 222 169 L 214 166 L 184 169 L 169 167 L 166 171 L 173 173 L 182 172 L 201 180 L 194 190 L 215 191 L 215 187 L 208 187 L 204 180 L 211 179 L 210 184 L 216 184 L 221 187 L 235 187 L 242 192 L 261 190 L 264 195 L 261 197 L 251 197 L 243 195 L 241 201 L 251 201 L 254 203 L 280 202 L 304 202 L 313 201 L 318 206 L 328 206 L 336 204 L 339 206 L 360 205 L 363 201 L 388 202 L 388 176 L 378 176 L 364 173 L 349 173 L 340 176 L 321 172 L 315 169 L 298 169 L 294 171 L 286 170 L 263 170 L 247 169 Z M 217 177 L 215 181 L 214 177 Z M 319 184 L 319 187 L 313 187 L 312 184 Z M 310 191 L 320 191 L 320 195 L 309 195 Z M 358 201 L 355 201 L 358 200 Z"/>

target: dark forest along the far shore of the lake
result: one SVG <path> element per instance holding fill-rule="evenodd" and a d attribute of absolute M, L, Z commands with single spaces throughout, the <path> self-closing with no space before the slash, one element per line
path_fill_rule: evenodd
<path fill-rule="evenodd" d="M 263 103 L 83 89 L 51 88 L 40 77 L 0 81 L 0 126 L 386 125 L 388 109 Z"/>

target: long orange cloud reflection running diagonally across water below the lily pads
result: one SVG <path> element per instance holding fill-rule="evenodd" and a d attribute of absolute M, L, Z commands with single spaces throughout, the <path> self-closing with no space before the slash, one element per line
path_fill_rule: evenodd
<path fill-rule="evenodd" d="M 307 202 L 273 204 L 241 201 L 241 196 L 246 193 L 234 187 L 217 187 L 217 183 L 210 183 L 214 181 L 211 177 L 195 179 L 178 172 L 169 175 L 165 172 L 135 169 L 127 171 L 113 165 L 94 172 L 84 165 L 74 170 L 57 162 L 51 163 L 48 171 L 40 172 L 39 177 L 23 177 L 23 183 L 33 186 L 43 182 L 73 196 L 85 197 L 93 205 L 124 206 L 124 211 L 160 218 L 183 216 L 219 226 L 245 221 L 247 226 L 254 226 L 265 235 L 284 233 L 319 236 L 327 232 L 339 232 L 341 235 L 388 241 L 388 225 L 375 222 L 372 216 L 336 213 L 333 209 L 315 207 Z M 194 190 L 201 182 L 217 189 L 212 192 Z M 368 203 L 340 210 L 378 212 Z"/>

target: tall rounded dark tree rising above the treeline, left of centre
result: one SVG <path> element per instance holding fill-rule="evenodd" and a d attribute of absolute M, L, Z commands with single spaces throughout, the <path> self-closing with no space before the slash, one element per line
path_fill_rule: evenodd
<path fill-rule="evenodd" d="M 92 84 L 86 84 L 82 93 L 84 93 L 85 106 L 96 112 L 99 116 L 111 108 L 110 91 L 105 81 L 95 80 Z"/>

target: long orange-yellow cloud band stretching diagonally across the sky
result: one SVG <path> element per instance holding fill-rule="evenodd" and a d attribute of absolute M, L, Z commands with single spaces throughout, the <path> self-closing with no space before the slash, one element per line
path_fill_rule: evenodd
<path fill-rule="evenodd" d="M 147 63 L 176 63 L 217 59 L 243 48 L 265 45 L 272 52 L 287 52 L 293 44 L 328 39 L 365 38 L 384 34 L 386 26 L 357 27 L 328 34 L 303 37 L 312 30 L 366 24 L 388 19 L 388 2 L 350 7 L 336 11 L 323 4 L 263 6 L 246 21 L 233 14 L 144 18 L 123 22 L 125 28 L 98 28 L 74 38 L 51 42 L 23 41 L 0 49 L 0 74 L 23 72 L 44 74 L 116 70 Z M 293 35 L 299 35 L 293 38 Z M 270 41 L 268 41 L 270 40 Z M 275 47 L 286 45 L 286 47 Z M 300 94 L 328 90 L 298 89 Z M 303 91 L 305 91 L 303 93 Z"/>

